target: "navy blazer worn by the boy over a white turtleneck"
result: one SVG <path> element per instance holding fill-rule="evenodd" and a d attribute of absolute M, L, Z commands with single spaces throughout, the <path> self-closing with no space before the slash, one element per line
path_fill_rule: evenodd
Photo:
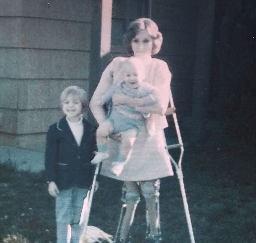
<path fill-rule="evenodd" d="M 51 125 L 47 132 L 45 172 L 47 181 L 54 181 L 60 190 L 75 185 L 90 188 L 95 165 L 90 161 L 97 151 L 95 128 L 83 118 L 83 136 L 80 146 L 64 116 Z"/>

